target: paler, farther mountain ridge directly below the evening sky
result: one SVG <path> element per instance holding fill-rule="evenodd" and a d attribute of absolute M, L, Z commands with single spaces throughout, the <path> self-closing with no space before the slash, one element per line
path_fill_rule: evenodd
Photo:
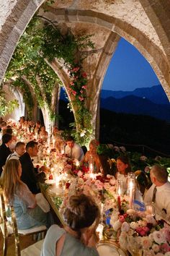
<path fill-rule="evenodd" d="M 102 90 L 101 98 L 124 98 L 129 95 L 134 95 L 140 98 L 148 98 L 156 104 L 169 104 L 169 99 L 164 92 L 161 85 L 154 85 L 151 88 L 137 88 L 133 91 L 122 91 L 122 90 Z"/>

